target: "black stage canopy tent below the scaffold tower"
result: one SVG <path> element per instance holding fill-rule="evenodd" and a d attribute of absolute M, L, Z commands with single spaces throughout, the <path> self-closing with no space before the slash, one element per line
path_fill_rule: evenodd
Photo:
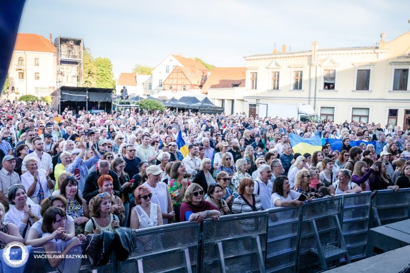
<path fill-rule="evenodd" d="M 111 112 L 113 90 L 113 88 L 62 86 L 51 94 L 51 106 L 58 109 L 59 113 L 66 107 L 76 112 L 82 109 L 86 111 L 103 109 L 105 112 Z"/>

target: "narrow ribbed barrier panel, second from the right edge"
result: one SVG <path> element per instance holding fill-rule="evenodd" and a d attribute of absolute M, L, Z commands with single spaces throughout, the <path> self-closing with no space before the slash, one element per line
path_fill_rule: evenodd
<path fill-rule="evenodd" d="M 344 194 L 342 231 L 351 260 L 366 258 L 372 192 Z"/>

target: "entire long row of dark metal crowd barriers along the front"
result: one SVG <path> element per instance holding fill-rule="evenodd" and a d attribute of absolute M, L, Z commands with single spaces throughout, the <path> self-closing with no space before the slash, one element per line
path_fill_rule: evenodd
<path fill-rule="evenodd" d="M 410 188 L 136 230 L 130 257 L 98 272 L 297 272 L 366 258 L 368 229 L 410 218 Z M 44 251 L 43 248 L 35 248 Z M 46 260 L 32 272 L 57 272 Z M 83 259 L 80 272 L 93 269 Z M 74 273 L 74 272 L 72 272 Z"/>

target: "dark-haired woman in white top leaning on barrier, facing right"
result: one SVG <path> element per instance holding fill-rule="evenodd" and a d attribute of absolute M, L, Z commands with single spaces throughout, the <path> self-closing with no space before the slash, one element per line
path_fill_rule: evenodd
<path fill-rule="evenodd" d="M 298 200 L 300 195 L 301 193 L 291 190 L 288 177 L 278 176 L 273 183 L 272 207 L 301 206 L 303 202 Z"/>

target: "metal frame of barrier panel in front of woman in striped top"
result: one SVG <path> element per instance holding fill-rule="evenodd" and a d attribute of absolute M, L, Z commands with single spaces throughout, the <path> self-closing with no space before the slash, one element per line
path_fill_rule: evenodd
<path fill-rule="evenodd" d="M 224 233 L 224 230 L 218 230 L 216 227 L 218 226 L 231 226 L 231 225 L 238 225 L 240 227 L 240 221 L 251 219 L 262 219 L 261 223 L 255 227 L 261 228 L 261 231 L 256 232 L 249 232 L 244 234 L 237 234 L 237 236 L 231 236 L 229 233 Z M 260 211 L 260 212 L 252 212 L 252 213 L 243 213 L 243 214 L 234 214 L 234 215 L 227 215 L 222 216 L 219 218 L 218 221 L 213 221 L 212 219 L 206 219 L 202 223 L 202 246 L 201 246 L 201 272 L 206 272 L 206 266 L 209 264 L 215 263 L 218 261 L 220 263 L 219 271 L 217 269 L 213 270 L 212 272 L 232 272 L 226 267 L 226 260 L 227 259 L 235 259 L 238 257 L 248 256 L 256 254 L 257 255 L 257 262 L 260 272 L 265 272 L 265 253 L 266 253 L 266 236 L 267 236 L 267 229 L 268 229 L 268 211 Z M 249 226 L 246 226 L 248 228 Z M 213 234 L 210 238 L 207 238 L 207 230 L 210 229 L 211 233 Z M 242 228 L 245 229 L 245 228 Z M 243 251 L 243 253 L 239 253 L 237 255 L 229 255 L 225 256 L 223 253 L 223 244 L 231 243 L 235 241 L 241 241 L 244 239 L 251 239 L 252 243 L 256 243 L 256 251 L 248 250 Z M 214 257 L 212 259 L 205 259 L 204 256 L 207 253 L 207 247 L 217 246 L 218 248 L 218 257 Z M 239 244 L 237 245 L 238 252 Z M 244 249 L 245 250 L 245 249 Z M 233 269 L 233 271 L 235 271 Z"/>

